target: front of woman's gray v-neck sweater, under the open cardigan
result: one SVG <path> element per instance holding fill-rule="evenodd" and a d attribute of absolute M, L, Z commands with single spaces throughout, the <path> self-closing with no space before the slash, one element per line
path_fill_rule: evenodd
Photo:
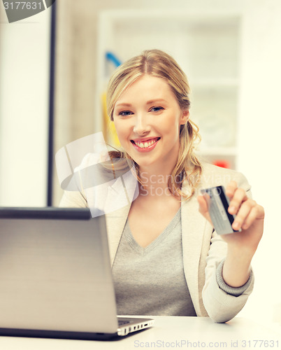
<path fill-rule="evenodd" d="M 113 263 L 117 314 L 196 316 L 183 271 L 180 218 L 179 209 L 145 248 L 127 220 Z"/>

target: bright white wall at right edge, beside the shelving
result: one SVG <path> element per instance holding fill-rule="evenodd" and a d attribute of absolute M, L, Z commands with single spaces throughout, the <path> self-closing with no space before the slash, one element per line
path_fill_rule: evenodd
<path fill-rule="evenodd" d="M 264 237 L 253 261 L 256 286 L 244 312 L 281 328 L 280 18 L 279 0 L 245 1 L 238 169 L 266 210 Z"/>

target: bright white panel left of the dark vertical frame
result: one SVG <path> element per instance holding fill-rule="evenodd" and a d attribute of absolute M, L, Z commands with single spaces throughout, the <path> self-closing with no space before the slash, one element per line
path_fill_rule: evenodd
<path fill-rule="evenodd" d="M 50 8 L 0 23 L 0 205 L 45 206 Z"/>

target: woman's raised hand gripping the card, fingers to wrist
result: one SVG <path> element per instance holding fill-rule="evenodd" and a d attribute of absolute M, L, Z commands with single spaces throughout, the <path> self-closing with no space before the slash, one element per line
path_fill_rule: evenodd
<path fill-rule="evenodd" d="M 242 249 L 254 254 L 264 232 L 264 208 L 248 198 L 245 190 L 238 188 L 236 181 L 231 181 L 226 187 L 226 195 L 230 200 L 229 214 L 236 214 L 232 228 L 242 231 L 221 237 L 229 244 L 229 248 Z M 197 200 L 199 211 L 212 225 L 205 198 L 199 196 Z"/>

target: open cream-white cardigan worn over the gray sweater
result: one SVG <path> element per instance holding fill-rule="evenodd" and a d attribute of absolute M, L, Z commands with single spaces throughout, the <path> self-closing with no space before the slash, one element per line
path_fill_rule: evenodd
<path fill-rule="evenodd" d="M 235 297 L 219 288 L 216 269 L 226 256 L 226 242 L 213 231 L 212 225 L 199 213 L 196 196 L 201 188 L 227 186 L 235 180 L 238 187 L 247 191 L 250 197 L 250 185 L 245 176 L 238 172 L 203 163 L 201 183 L 196 193 L 189 200 L 182 201 L 182 253 L 185 278 L 197 316 L 210 316 L 215 322 L 226 322 L 236 316 L 243 308 L 247 297 L 252 292 L 254 279 L 245 292 Z M 188 190 L 187 184 L 182 187 Z M 114 200 L 114 199 L 113 199 Z M 85 194 L 65 192 L 60 207 L 87 207 Z M 108 242 L 111 265 L 120 242 L 130 205 L 106 214 Z"/>

